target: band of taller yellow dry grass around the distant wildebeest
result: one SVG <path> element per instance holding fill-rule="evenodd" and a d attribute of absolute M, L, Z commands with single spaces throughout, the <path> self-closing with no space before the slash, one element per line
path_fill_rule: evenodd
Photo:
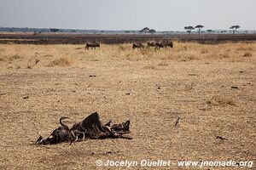
<path fill-rule="evenodd" d="M 255 42 L 221 43 L 218 45 L 203 45 L 195 42 L 174 42 L 174 48 L 154 50 L 143 48 L 131 50 L 131 44 L 106 45 L 101 50 L 84 51 L 82 45 L 1 45 L 0 61 L 15 62 L 22 59 L 47 60 L 48 65 L 73 65 L 81 61 L 105 60 L 152 60 L 173 59 L 189 61 L 197 59 L 224 59 L 232 62 L 255 63 Z M 50 60 L 51 59 L 51 60 Z M 56 60 L 57 59 L 57 60 Z M 60 60 L 62 59 L 62 60 Z M 67 60 L 63 62 L 63 59 Z M 54 61 L 56 60 L 56 61 Z M 54 64 L 55 63 L 55 64 Z M 47 63 L 45 63 L 47 65 Z"/>

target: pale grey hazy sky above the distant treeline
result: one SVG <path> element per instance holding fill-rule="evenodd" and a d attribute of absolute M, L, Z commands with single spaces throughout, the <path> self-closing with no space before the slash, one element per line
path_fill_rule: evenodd
<path fill-rule="evenodd" d="M 0 0 L 0 26 L 96 30 L 256 30 L 256 0 Z"/>

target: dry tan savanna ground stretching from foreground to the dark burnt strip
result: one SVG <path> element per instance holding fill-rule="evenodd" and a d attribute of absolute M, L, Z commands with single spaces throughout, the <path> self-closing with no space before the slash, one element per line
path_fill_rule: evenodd
<path fill-rule="evenodd" d="M 143 159 L 254 161 L 255 168 L 255 79 L 256 42 L 174 42 L 157 51 L 2 44 L 0 169 L 115 169 L 95 161 Z M 61 116 L 71 125 L 93 111 L 102 122 L 131 120 L 133 139 L 33 144 Z"/>

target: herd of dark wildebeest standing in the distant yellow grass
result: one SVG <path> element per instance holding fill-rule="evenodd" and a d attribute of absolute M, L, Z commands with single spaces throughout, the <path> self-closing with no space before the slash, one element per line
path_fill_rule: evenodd
<path fill-rule="evenodd" d="M 87 42 L 85 44 L 85 50 L 89 49 L 96 49 L 100 48 L 100 43 L 99 42 Z M 142 42 L 135 42 L 132 44 L 132 49 L 135 48 L 154 48 L 154 49 L 160 49 L 160 48 L 173 48 L 173 42 L 169 40 L 163 40 L 163 41 L 152 41 L 152 42 L 147 42 L 147 46 L 145 46 Z"/>

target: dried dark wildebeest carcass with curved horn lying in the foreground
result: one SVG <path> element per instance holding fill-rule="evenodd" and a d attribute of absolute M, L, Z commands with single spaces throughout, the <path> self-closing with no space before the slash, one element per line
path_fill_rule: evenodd
<path fill-rule="evenodd" d="M 67 118 L 61 117 L 61 127 L 56 128 L 47 139 L 40 136 L 36 144 L 58 144 L 61 142 L 72 144 L 74 141 L 84 139 L 131 139 L 131 137 L 123 136 L 125 133 L 130 133 L 130 121 L 113 125 L 109 122 L 102 125 L 99 114 L 95 112 L 87 116 L 84 121 L 75 123 L 73 127 L 69 128 L 62 122 Z"/>

